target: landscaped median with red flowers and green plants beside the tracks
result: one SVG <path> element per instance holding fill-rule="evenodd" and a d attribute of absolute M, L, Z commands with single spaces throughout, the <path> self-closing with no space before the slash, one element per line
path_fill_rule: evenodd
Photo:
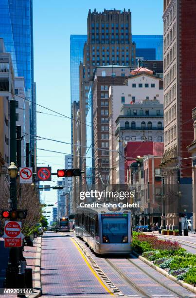
<path fill-rule="evenodd" d="M 133 249 L 142 254 L 143 261 L 159 267 L 158 271 L 196 293 L 196 255 L 188 253 L 178 242 L 133 232 Z"/>

